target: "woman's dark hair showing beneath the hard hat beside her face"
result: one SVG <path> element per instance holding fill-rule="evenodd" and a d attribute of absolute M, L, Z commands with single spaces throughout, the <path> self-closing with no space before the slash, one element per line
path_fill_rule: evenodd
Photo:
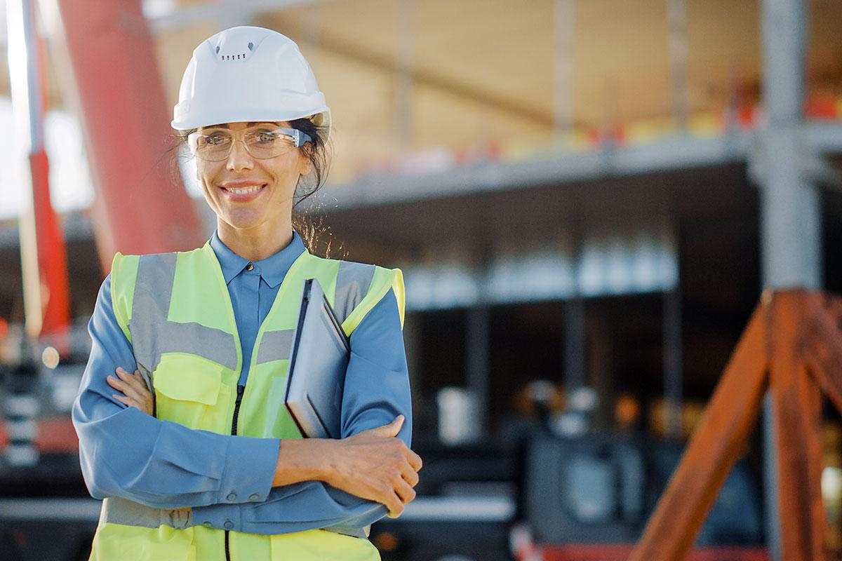
<path fill-rule="evenodd" d="M 292 204 L 292 227 L 301 236 L 308 250 L 313 252 L 317 245 L 322 246 L 323 251 L 318 252 L 325 253 L 325 257 L 327 257 L 331 251 L 331 241 L 320 238 L 322 234 L 327 234 L 330 237 L 329 228 L 324 225 L 323 217 L 315 213 L 305 214 L 297 210 L 297 207 L 307 198 L 311 198 L 328 179 L 330 160 L 333 156 L 333 143 L 328 141 L 327 138 L 328 127 L 317 126 L 310 118 L 293 119 L 290 121 L 290 126 L 310 136 L 311 140 L 301 146 L 301 151 L 312 165 L 312 172 L 307 176 L 301 176 L 296 185 Z M 189 151 L 184 150 L 184 148 L 187 146 L 187 137 L 195 130 L 179 130 L 175 133 L 173 135 L 173 146 L 170 150 L 178 153 L 180 149 L 182 155 L 189 155 Z M 173 158 L 173 178 L 177 178 L 178 183 L 182 181 L 179 162 L 176 158 Z"/>

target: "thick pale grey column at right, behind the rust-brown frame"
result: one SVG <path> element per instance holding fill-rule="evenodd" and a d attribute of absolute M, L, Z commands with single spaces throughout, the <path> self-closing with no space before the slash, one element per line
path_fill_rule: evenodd
<path fill-rule="evenodd" d="M 759 183 L 762 280 L 765 288 L 820 288 L 821 207 L 818 188 L 802 172 L 804 56 L 807 13 L 803 0 L 762 0 L 761 33 L 765 125 L 760 134 Z M 777 510 L 775 412 L 764 402 L 764 472 L 767 542 L 781 559 Z"/>

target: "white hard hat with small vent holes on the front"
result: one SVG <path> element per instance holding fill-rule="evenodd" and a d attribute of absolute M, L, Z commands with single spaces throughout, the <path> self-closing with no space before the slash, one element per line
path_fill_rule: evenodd
<path fill-rule="evenodd" d="M 261 27 L 232 27 L 202 42 L 184 71 L 173 129 L 241 121 L 289 121 L 312 115 L 328 140 L 330 108 L 310 65 L 289 37 Z"/>

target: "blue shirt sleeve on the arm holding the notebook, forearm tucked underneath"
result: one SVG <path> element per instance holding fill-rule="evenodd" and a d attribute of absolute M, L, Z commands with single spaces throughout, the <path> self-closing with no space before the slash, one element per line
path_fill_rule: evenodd
<path fill-rule="evenodd" d="M 342 435 L 394 421 L 404 415 L 397 437 L 409 446 L 412 403 L 403 347 L 402 321 L 390 289 L 369 311 L 350 337 L 351 356 L 342 401 Z M 283 444 L 281 444 L 283 453 Z M 301 532 L 332 527 L 359 531 L 386 516 L 380 503 L 360 499 L 319 481 L 276 487 L 257 504 L 210 505 L 195 508 L 195 524 L 257 534 Z"/>

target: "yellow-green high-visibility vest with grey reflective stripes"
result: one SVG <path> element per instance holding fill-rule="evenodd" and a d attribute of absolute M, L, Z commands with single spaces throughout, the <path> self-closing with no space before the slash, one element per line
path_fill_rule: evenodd
<path fill-rule="evenodd" d="M 324 259 L 303 251 L 280 284 L 257 338 L 237 434 L 300 438 L 283 402 L 292 333 L 306 278 L 317 278 L 347 335 L 394 290 L 403 323 L 400 269 Z M 191 429 L 232 434 L 242 350 L 225 279 L 210 243 L 194 251 L 115 256 L 115 317 L 131 341 L 138 368 L 152 375 L 156 416 Z M 188 511 L 168 511 L 119 497 L 104 500 L 93 537 L 96 561 L 370 561 L 371 542 L 328 530 L 279 535 L 189 526 Z"/>

